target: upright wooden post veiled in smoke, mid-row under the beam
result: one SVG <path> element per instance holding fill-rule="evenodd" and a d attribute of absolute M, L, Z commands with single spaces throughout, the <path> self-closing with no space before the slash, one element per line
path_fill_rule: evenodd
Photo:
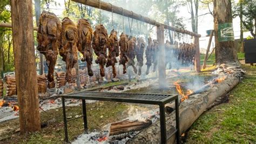
<path fill-rule="evenodd" d="M 165 88 L 165 48 L 164 48 L 164 26 L 160 25 L 157 27 L 157 41 L 159 42 L 158 52 L 158 81 L 159 87 Z"/>

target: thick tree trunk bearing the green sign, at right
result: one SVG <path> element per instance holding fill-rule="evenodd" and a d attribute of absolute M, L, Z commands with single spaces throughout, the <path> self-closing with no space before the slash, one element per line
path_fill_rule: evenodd
<path fill-rule="evenodd" d="M 214 0 L 215 59 L 217 64 L 238 62 L 234 41 L 219 42 L 219 24 L 232 23 L 231 0 Z"/>

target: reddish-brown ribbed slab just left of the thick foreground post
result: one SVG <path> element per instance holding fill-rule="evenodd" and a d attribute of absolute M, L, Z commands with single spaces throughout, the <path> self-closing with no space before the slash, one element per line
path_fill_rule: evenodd
<path fill-rule="evenodd" d="M 12 96 L 17 94 L 15 75 L 6 75 L 6 96 Z"/>

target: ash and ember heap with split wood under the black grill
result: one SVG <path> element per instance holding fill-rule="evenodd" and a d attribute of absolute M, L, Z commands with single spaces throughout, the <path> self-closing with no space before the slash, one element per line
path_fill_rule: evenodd
<path fill-rule="evenodd" d="M 131 107 L 129 112 L 134 112 L 132 116 L 104 126 L 104 131 L 82 134 L 72 143 L 126 143 L 159 119 L 157 110 L 138 112 Z"/>

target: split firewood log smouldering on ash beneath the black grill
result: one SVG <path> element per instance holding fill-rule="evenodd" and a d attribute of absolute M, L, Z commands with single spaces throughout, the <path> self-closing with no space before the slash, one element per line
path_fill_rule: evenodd
<path fill-rule="evenodd" d="M 110 126 L 109 135 L 117 135 L 122 133 L 128 133 L 131 131 L 140 131 L 145 127 L 152 125 L 151 120 L 139 121 L 139 120 L 122 120 L 116 123 L 112 123 Z"/>

